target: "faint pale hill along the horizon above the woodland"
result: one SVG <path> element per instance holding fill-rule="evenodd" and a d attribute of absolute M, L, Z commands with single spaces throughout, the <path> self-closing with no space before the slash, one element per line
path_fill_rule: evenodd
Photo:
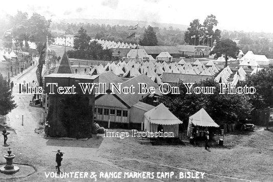
<path fill-rule="evenodd" d="M 78 24 L 80 22 L 82 23 L 89 23 L 89 24 L 98 24 L 98 25 L 119 25 L 119 26 L 135 26 L 139 25 L 140 27 L 159 27 L 159 28 L 166 28 L 173 27 L 174 30 L 186 30 L 188 26 L 186 25 L 180 25 L 180 24 L 166 24 L 166 23 L 158 23 L 158 22 L 148 22 L 148 21 L 136 21 L 136 20 L 125 20 L 125 19 L 84 19 L 84 18 L 70 18 L 70 19 L 58 19 L 53 20 L 53 22 L 65 22 L 65 23 L 74 23 Z"/>

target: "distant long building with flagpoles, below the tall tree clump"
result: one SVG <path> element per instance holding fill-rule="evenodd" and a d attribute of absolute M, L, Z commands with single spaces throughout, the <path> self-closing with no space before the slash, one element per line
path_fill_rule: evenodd
<path fill-rule="evenodd" d="M 177 49 L 182 57 L 191 56 L 193 58 L 208 58 L 211 52 L 208 46 L 203 45 L 177 45 Z"/>

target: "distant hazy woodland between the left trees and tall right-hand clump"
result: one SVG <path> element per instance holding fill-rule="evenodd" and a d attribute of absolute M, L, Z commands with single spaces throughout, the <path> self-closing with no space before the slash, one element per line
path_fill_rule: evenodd
<path fill-rule="evenodd" d="M 51 30 L 54 37 L 64 36 L 65 32 L 67 34 L 75 35 L 80 28 L 87 31 L 87 34 L 91 38 L 111 40 L 115 42 L 128 42 L 132 44 L 137 44 L 137 39 L 135 37 L 128 38 L 133 31 L 129 29 L 132 26 L 110 26 L 110 25 L 97 25 L 97 24 L 66 24 L 65 22 L 54 22 L 52 23 Z M 151 27 L 151 26 L 150 26 Z M 144 31 L 149 29 L 149 27 L 138 26 L 139 38 L 143 39 Z M 172 27 L 169 28 L 159 28 L 153 27 L 153 31 L 157 37 L 157 45 L 178 45 L 184 44 L 184 31 L 179 29 L 174 30 Z M 136 32 L 136 31 L 135 31 Z"/>

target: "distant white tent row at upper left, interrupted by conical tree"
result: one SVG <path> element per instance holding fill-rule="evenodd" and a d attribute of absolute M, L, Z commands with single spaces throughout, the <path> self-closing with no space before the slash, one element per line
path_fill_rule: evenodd
<path fill-rule="evenodd" d="M 91 39 L 90 42 L 97 41 L 101 44 L 103 49 L 135 49 L 137 45 L 134 43 L 127 43 L 127 42 L 115 42 L 111 40 L 101 40 L 101 39 Z M 54 45 L 66 45 L 67 47 L 74 47 L 74 37 L 57 37 L 54 38 Z"/>

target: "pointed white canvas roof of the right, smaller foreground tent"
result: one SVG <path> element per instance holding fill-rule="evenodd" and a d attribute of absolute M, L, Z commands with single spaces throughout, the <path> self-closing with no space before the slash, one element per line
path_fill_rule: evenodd
<path fill-rule="evenodd" d="M 193 123 L 195 126 L 219 127 L 219 125 L 213 121 L 204 108 L 201 108 L 194 115 L 190 116 L 188 118 L 188 122 Z"/>

